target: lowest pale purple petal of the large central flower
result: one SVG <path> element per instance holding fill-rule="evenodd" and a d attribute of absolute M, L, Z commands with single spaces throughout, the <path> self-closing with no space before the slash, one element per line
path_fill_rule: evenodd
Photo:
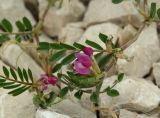
<path fill-rule="evenodd" d="M 77 73 L 82 75 L 88 75 L 91 73 L 90 68 L 85 67 L 81 62 L 77 60 L 74 62 L 74 69 Z"/>

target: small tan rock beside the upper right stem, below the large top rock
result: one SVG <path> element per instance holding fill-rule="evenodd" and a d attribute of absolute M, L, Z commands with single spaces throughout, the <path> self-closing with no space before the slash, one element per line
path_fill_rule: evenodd
<path fill-rule="evenodd" d="M 119 46 L 124 45 L 128 41 L 132 40 L 137 30 L 130 24 L 126 25 L 123 30 L 118 33 L 118 44 Z"/>

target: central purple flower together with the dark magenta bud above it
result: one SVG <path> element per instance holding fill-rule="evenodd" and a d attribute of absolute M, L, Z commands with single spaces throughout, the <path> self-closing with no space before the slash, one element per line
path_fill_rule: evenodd
<path fill-rule="evenodd" d="M 91 73 L 93 49 L 85 47 L 83 52 L 76 52 L 74 61 L 74 69 L 77 73 L 88 75 Z"/>

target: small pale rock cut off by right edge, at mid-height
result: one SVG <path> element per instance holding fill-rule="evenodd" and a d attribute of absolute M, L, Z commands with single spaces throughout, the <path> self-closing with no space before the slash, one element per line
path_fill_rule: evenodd
<path fill-rule="evenodd" d="M 153 64 L 153 76 L 156 80 L 156 84 L 160 86 L 160 63 Z"/>

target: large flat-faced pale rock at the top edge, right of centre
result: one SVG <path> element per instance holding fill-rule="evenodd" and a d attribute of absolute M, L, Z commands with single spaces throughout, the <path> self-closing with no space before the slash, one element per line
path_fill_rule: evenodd
<path fill-rule="evenodd" d="M 92 0 L 84 17 L 86 25 L 110 20 L 129 21 L 136 26 L 143 20 L 131 0 L 113 4 L 111 0 Z"/>

